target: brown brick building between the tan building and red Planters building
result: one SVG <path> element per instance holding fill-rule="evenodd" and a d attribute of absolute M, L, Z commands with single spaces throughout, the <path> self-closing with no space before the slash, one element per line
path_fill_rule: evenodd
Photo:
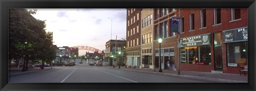
<path fill-rule="evenodd" d="M 161 38 L 161 68 L 167 69 L 167 60 L 171 60 L 177 67 L 178 63 L 178 48 L 177 39 L 178 33 L 171 31 L 172 17 L 177 17 L 177 9 L 154 9 L 154 64 L 159 68 L 159 43 L 158 39 Z M 175 61 L 175 62 L 174 62 Z"/>

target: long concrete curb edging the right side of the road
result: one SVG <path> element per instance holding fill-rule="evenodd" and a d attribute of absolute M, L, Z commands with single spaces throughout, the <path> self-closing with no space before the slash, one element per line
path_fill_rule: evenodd
<path fill-rule="evenodd" d="M 188 75 L 175 75 L 175 74 L 172 74 L 172 73 L 161 73 L 161 72 L 130 70 L 130 69 L 120 69 L 120 70 L 129 70 L 129 71 L 147 72 L 147 73 L 157 73 L 157 74 L 161 74 L 161 75 L 168 75 L 168 76 L 175 76 L 175 77 L 185 77 L 185 78 L 191 78 L 191 79 L 203 79 L 203 80 L 209 80 L 209 81 L 220 81 L 220 82 L 231 82 L 231 83 L 245 82 L 245 83 L 247 83 L 247 81 L 218 79 L 218 78 L 207 78 L 207 77 L 188 76 Z"/>

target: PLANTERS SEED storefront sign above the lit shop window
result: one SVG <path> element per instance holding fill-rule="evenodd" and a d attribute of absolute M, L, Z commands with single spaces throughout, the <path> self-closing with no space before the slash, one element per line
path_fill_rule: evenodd
<path fill-rule="evenodd" d="M 210 45 L 212 43 L 212 35 L 205 34 L 205 35 L 198 35 L 198 36 L 191 36 L 186 38 L 181 38 L 181 47 L 186 46 L 198 46 L 198 45 Z"/>

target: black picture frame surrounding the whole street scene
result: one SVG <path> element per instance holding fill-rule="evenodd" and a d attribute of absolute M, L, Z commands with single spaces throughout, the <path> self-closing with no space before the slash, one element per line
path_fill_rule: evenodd
<path fill-rule="evenodd" d="M 9 8 L 248 8 L 248 83 L 29 83 L 8 82 Z M 2 0 L 0 1 L 1 90 L 255 90 L 255 0 Z"/>

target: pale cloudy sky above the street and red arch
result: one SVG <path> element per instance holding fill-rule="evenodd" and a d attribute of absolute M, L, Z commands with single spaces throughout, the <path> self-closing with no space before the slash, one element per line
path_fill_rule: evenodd
<path fill-rule="evenodd" d="M 126 38 L 126 9 L 37 9 L 36 19 L 46 20 L 46 31 L 53 32 L 53 44 L 90 46 L 101 51 L 112 39 Z M 79 51 L 79 55 L 85 51 Z"/>

